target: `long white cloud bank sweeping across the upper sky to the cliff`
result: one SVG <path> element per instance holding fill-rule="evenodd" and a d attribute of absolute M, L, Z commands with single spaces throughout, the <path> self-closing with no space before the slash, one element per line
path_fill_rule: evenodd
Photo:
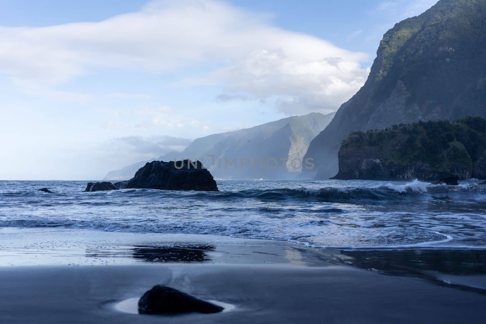
<path fill-rule="evenodd" d="M 360 66 L 366 54 L 276 28 L 267 16 L 217 0 L 153 1 L 101 22 L 0 27 L 0 40 L 0 71 L 21 91 L 64 99 L 69 94 L 56 86 L 100 68 L 164 73 L 218 62 L 223 68 L 179 85 L 223 85 L 226 98 L 291 97 L 326 111 L 367 76 Z"/>

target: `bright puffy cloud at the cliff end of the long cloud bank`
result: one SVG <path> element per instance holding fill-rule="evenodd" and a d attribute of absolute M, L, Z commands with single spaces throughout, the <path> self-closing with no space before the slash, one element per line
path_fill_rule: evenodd
<path fill-rule="evenodd" d="M 309 59 L 279 49 L 254 51 L 238 65 L 211 72 L 206 78 L 226 85 L 228 94 L 247 93 L 260 101 L 287 97 L 277 101 L 277 108 L 296 115 L 336 110 L 360 89 L 368 74 L 369 69 L 345 55 Z"/>

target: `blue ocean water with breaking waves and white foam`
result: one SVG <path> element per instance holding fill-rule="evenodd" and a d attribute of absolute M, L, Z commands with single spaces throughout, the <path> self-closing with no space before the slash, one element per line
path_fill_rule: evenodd
<path fill-rule="evenodd" d="M 0 227 L 216 234 L 321 248 L 486 248 L 486 186 L 218 181 L 219 192 L 83 192 L 87 181 L 0 181 Z M 53 194 L 37 191 L 47 187 Z"/>

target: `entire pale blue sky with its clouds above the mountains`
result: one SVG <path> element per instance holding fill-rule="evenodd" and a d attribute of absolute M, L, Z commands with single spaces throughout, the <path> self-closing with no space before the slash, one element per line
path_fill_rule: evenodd
<path fill-rule="evenodd" d="M 0 179 L 100 179 L 191 139 L 337 110 L 434 0 L 0 0 Z"/>

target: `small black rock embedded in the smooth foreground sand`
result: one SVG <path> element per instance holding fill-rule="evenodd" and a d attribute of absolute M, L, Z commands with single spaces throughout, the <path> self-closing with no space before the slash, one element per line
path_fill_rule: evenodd
<path fill-rule="evenodd" d="M 139 299 L 139 314 L 219 313 L 224 308 L 173 288 L 156 285 Z"/>

